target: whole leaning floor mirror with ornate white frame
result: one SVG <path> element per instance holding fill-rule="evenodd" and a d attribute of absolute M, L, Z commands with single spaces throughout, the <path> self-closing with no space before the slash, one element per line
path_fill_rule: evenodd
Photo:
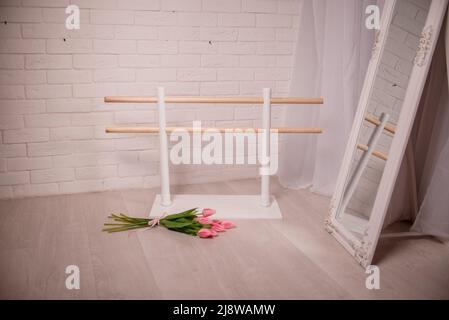
<path fill-rule="evenodd" d="M 371 264 L 447 0 L 387 0 L 326 228 Z"/>

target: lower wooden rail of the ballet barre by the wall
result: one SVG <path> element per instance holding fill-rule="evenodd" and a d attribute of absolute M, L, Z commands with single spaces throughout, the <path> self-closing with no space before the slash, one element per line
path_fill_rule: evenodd
<path fill-rule="evenodd" d="M 259 128 L 191 128 L 191 127 L 167 127 L 165 132 L 171 133 L 175 130 L 183 130 L 188 133 L 206 132 L 212 130 L 220 133 L 247 133 L 252 130 L 253 132 L 260 132 L 263 129 Z M 159 127 L 118 127 L 118 128 L 106 128 L 106 133 L 159 133 Z M 251 132 L 251 131 L 250 131 Z M 312 133 L 320 134 L 323 132 L 320 128 L 272 128 L 271 132 L 278 133 Z"/>

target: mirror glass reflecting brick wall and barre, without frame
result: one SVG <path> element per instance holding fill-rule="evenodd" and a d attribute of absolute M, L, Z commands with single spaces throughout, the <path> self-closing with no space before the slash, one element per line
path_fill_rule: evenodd
<path fill-rule="evenodd" d="M 361 239 L 377 195 L 431 0 L 397 0 L 337 219 Z M 376 54 L 376 53 L 374 53 Z"/>

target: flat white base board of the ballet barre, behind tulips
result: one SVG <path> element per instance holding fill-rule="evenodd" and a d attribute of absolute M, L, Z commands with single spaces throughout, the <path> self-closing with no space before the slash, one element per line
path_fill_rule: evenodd
<path fill-rule="evenodd" d="M 169 207 L 161 206 L 161 195 L 154 199 L 150 217 L 159 217 L 185 211 L 192 208 L 212 208 L 219 219 L 282 219 L 281 210 L 274 197 L 271 205 L 260 205 L 260 195 L 207 195 L 207 194 L 175 194 Z"/>

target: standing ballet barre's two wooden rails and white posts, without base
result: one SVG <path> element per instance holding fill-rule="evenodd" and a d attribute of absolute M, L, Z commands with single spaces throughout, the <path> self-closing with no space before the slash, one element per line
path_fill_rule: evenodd
<path fill-rule="evenodd" d="M 171 202 L 170 181 L 169 181 L 169 163 L 168 163 L 168 143 L 167 133 L 184 131 L 189 133 L 196 132 L 220 132 L 244 134 L 248 132 L 262 133 L 262 152 L 264 160 L 261 161 L 259 173 L 261 175 L 261 197 L 260 204 L 263 207 L 269 207 L 270 200 L 270 134 L 272 132 L 285 134 L 321 134 L 321 128 L 272 128 L 271 127 L 271 105 L 317 105 L 323 104 L 322 98 L 274 98 L 271 97 L 269 88 L 263 89 L 262 97 L 192 97 L 192 96 L 173 96 L 166 97 L 163 87 L 158 87 L 157 97 L 117 97 L 108 96 L 104 98 L 106 103 L 156 103 L 158 106 L 159 126 L 158 127 L 116 127 L 106 128 L 107 133 L 158 133 L 159 134 L 159 163 L 161 176 L 161 195 L 160 205 L 169 207 Z M 195 127 L 167 127 L 165 118 L 166 103 L 183 104 L 262 104 L 262 128 L 195 128 Z"/>

